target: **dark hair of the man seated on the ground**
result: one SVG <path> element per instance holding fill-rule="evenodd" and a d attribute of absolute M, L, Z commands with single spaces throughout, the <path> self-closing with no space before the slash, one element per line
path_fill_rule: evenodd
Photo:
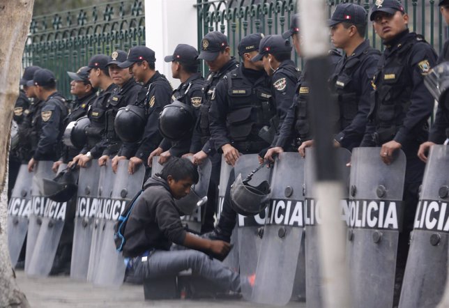
<path fill-rule="evenodd" d="M 160 177 L 167 180 L 168 176 L 172 176 L 176 181 L 190 178 L 195 184 L 199 180 L 198 169 L 195 164 L 190 162 L 188 158 L 183 157 L 172 157 L 165 163 L 164 168 L 160 171 Z"/>

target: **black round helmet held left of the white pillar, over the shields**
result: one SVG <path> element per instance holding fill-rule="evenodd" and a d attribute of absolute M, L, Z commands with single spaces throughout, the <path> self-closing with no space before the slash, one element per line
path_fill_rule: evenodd
<path fill-rule="evenodd" d="M 121 107 L 115 116 L 114 128 L 123 142 L 136 142 L 145 129 L 146 117 L 144 107 L 128 105 Z"/>

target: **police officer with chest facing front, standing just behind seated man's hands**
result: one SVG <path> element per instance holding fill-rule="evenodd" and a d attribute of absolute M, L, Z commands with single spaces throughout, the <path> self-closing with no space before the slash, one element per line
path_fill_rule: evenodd
<path fill-rule="evenodd" d="M 250 34 L 241 40 L 238 45 L 241 66 L 228 72 L 218 83 L 209 111 L 213 144 L 232 166 L 240 155 L 259 153 L 270 145 L 260 137 L 260 132 L 264 126 L 269 127 L 273 117 L 277 116 L 264 64 L 254 61 L 261 52 L 259 45 L 264 46 L 261 40 L 261 33 Z M 231 171 L 223 210 L 212 236 L 226 242 L 230 241 L 236 223 L 236 212 L 231 208 L 229 195 L 234 178 L 234 171 Z"/>

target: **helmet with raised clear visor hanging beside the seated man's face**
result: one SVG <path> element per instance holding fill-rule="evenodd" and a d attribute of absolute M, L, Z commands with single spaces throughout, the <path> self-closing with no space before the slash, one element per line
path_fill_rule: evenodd
<path fill-rule="evenodd" d="M 231 206 L 241 215 L 251 216 L 261 213 L 268 206 L 271 189 L 268 180 L 264 180 L 257 186 L 252 186 L 242 180 L 238 174 L 231 185 Z"/>

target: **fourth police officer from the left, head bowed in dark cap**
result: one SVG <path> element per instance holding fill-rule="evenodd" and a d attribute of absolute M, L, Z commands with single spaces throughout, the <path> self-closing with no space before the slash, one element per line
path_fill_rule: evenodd
<path fill-rule="evenodd" d="M 87 162 L 99 158 L 106 148 L 106 138 L 103 137 L 106 129 L 107 102 L 116 88 L 107 69 L 109 56 L 96 54 L 89 59 L 89 80 L 94 88 L 102 91 L 93 101 L 87 116 L 91 123 L 86 128 L 87 144 L 79 155 L 75 156 L 69 165 L 77 162 L 79 167 L 86 167 Z M 100 163 L 100 162 L 99 162 Z"/>

